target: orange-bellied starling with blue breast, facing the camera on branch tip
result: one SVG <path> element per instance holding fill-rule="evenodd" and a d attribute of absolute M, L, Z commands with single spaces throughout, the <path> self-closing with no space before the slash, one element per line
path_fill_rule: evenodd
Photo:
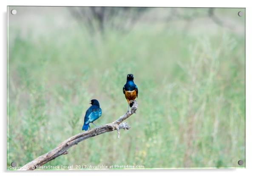
<path fill-rule="evenodd" d="M 132 107 L 132 105 L 134 105 L 134 101 L 136 97 L 138 97 L 138 92 L 139 92 L 137 85 L 134 84 L 133 74 L 127 75 L 127 81 L 124 87 L 122 88 L 122 91 L 125 94 L 125 98 L 128 102 L 128 111 L 129 111 L 129 106 Z"/>

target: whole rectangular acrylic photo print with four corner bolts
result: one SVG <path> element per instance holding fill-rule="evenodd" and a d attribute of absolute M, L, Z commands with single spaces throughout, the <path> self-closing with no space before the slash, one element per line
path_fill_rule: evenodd
<path fill-rule="evenodd" d="M 7 83 L 8 170 L 245 168 L 245 8 L 9 6 Z"/>

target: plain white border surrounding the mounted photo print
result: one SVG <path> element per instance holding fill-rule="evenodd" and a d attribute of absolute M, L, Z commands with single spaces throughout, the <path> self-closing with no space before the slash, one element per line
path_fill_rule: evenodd
<path fill-rule="evenodd" d="M 79 172 L 77 174 L 89 174 L 89 175 L 98 175 L 107 174 L 107 175 L 156 175 L 160 172 L 163 175 L 170 174 L 182 174 L 182 175 L 213 175 L 216 174 L 221 175 L 233 175 L 233 176 L 241 176 L 241 175 L 251 175 L 251 173 L 256 173 L 254 168 L 254 164 L 256 163 L 256 111 L 254 110 L 256 102 L 256 56 L 255 56 L 255 17 L 256 10 L 253 5 L 253 1 L 246 0 L 232 0 L 232 1 L 224 1 L 224 0 L 178 0 L 178 1 L 165 1 L 165 0 L 62 0 L 62 1 L 53 1 L 53 0 L 41 0 L 40 2 L 34 0 L 1 0 L 1 42 L 0 42 L 0 50 L 2 54 L 1 59 L 1 99 L 2 101 L 0 110 L 2 114 L 2 123 L 1 123 L 1 159 L 0 166 L 2 172 L 6 171 L 6 6 L 7 5 L 52 5 L 52 6 L 170 6 L 170 7 L 241 7 L 246 8 L 246 169 L 208 169 L 208 170 L 198 170 L 198 169 L 179 169 L 179 170 L 83 170 L 83 171 L 72 171 Z M 71 171 L 47 171 L 47 174 L 53 175 L 56 173 L 60 173 L 63 176 L 70 175 Z M 84 173 L 85 172 L 85 173 Z M 24 175 L 26 176 L 28 173 L 16 173 L 16 172 L 8 172 L 11 175 Z M 8 174 L 4 173 L 4 175 Z M 34 172 L 37 175 L 45 175 L 45 172 Z"/>

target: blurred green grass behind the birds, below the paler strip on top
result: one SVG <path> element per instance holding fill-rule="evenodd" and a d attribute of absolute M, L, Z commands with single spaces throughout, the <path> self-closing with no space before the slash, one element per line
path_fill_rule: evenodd
<path fill-rule="evenodd" d="M 223 12 L 225 14 L 225 12 Z M 125 113 L 126 75 L 139 88 L 131 129 L 79 143 L 46 165 L 239 167 L 245 160 L 245 36 L 225 27 L 190 34 L 139 23 L 91 36 L 79 24 L 35 35 L 9 27 L 8 162 L 22 166 L 82 132 L 89 100 Z M 243 166 L 242 166 L 243 167 Z"/>

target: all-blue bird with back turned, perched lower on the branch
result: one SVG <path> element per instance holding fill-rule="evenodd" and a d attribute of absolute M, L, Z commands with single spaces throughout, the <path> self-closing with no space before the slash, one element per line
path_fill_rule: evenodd
<path fill-rule="evenodd" d="M 91 107 L 89 107 L 85 113 L 84 124 L 82 126 L 82 130 L 85 130 L 85 131 L 88 130 L 88 128 L 91 129 L 89 124 L 90 123 L 94 124 L 93 122 L 96 121 L 102 114 L 100 103 L 98 102 L 97 99 L 92 99 L 90 104 L 91 104 Z M 95 126 L 97 127 L 97 125 Z"/>

